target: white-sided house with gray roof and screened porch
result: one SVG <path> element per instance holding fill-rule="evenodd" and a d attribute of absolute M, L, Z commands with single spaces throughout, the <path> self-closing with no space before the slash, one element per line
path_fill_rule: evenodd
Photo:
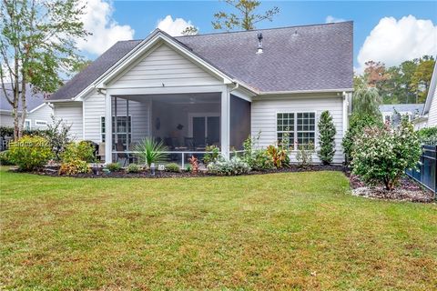
<path fill-rule="evenodd" d="M 207 145 L 229 156 L 248 135 L 259 134 L 256 146 L 284 133 L 295 150 L 317 145 L 319 116 L 329 110 L 341 163 L 352 32 L 352 22 L 179 37 L 157 29 L 117 42 L 48 101 L 73 135 L 112 153 L 107 163 L 146 136 L 178 161 Z"/>

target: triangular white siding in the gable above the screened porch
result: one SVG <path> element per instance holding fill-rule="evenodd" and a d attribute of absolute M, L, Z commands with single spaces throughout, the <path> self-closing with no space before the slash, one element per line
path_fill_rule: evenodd
<path fill-rule="evenodd" d="M 168 45 L 159 45 L 128 68 L 110 87 L 220 85 L 217 78 Z"/>

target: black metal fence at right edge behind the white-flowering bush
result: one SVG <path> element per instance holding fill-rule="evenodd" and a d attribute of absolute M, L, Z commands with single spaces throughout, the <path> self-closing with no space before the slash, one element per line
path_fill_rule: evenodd
<path fill-rule="evenodd" d="M 422 146 L 423 153 L 417 169 L 407 170 L 408 176 L 436 193 L 437 190 L 437 146 Z"/>

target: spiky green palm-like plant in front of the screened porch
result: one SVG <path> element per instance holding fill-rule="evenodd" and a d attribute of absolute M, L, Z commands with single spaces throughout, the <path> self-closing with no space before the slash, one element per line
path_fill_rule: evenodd
<path fill-rule="evenodd" d="M 147 136 L 143 139 L 137 146 L 135 146 L 135 151 L 139 161 L 144 161 L 148 167 L 152 163 L 160 163 L 167 160 L 167 146 L 161 142 L 157 142 L 153 137 Z"/>

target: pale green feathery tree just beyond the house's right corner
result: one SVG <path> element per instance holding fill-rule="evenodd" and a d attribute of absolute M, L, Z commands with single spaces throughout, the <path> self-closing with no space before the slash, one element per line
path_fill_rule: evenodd
<path fill-rule="evenodd" d="M 353 93 L 352 112 L 359 115 L 381 116 L 381 96 L 375 87 L 363 86 Z"/>

